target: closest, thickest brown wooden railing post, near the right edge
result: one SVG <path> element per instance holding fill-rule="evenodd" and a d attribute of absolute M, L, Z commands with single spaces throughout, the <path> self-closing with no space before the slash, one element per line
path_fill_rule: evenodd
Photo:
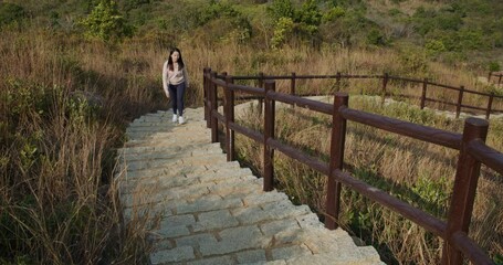
<path fill-rule="evenodd" d="M 485 141 L 488 127 L 489 123 L 485 119 L 468 118 L 464 121 L 454 189 L 447 221 L 447 241 L 443 244 L 442 264 L 460 265 L 463 262 L 461 252 L 454 250 L 450 241 L 458 231 L 468 234 L 481 167 L 481 163 L 468 152 L 468 145 L 475 139 Z"/>

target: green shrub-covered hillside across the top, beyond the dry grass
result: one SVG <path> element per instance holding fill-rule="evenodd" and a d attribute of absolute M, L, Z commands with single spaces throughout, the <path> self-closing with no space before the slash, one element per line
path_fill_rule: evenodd
<path fill-rule="evenodd" d="M 90 31 L 78 21 L 98 0 L 0 3 L 0 24 L 21 23 L 65 34 Z M 258 49 L 306 43 L 313 47 L 402 50 L 412 45 L 429 60 L 500 70 L 503 6 L 497 0 L 118 0 L 119 26 L 129 38 L 167 45 L 190 39 L 200 44 L 239 42 Z M 115 28 L 116 31 L 123 30 Z M 91 30 L 92 31 L 92 30 Z"/>

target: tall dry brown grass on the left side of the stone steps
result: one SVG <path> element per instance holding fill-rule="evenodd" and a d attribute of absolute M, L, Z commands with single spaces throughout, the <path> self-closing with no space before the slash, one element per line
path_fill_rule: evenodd
<path fill-rule="evenodd" d="M 0 261 L 144 261 L 145 226 L 123 226 L 113 170 L 127 120 L 161 107 L 153 78 L 137 70 L 123 74 L 116 56 L 129 54 L 99 43 L 44 32 L 4 36 Z"/>

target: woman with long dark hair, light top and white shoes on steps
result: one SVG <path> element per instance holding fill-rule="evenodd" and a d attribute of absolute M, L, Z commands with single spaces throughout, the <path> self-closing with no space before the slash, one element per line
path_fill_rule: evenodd
<path fill-rule="evenodd" d="M 175 47 L 169 52 L 169 57 L 163 66 L 163 88 L 166 96 L 171 98 L 174 123 L 185 124 L 184 96 L 188 86 L 189 80 L 181 52 Z"/>

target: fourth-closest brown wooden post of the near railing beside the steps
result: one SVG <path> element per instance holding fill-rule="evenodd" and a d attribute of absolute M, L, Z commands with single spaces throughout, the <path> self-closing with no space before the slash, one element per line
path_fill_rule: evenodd
<path fill-rule="evenodd" d="M 234 91 L 229 88 L 234 84 L 232 76 L 226 76 L 226 149 L 227 161 L 234 160 L 234 130 L 229 128 L 230 123 L 234 123 Z"/>

